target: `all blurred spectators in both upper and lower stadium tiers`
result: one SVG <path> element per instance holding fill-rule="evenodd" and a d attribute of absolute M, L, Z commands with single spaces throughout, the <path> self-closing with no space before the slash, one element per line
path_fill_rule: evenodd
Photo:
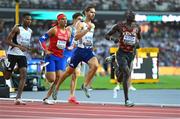
<path fill-rule="evenodd" d="M 97 10 L 126 10 L 135 11 L 180 11 L 180 0 L 19 0 L 21 8 L 29 9 L 62 9 L 82 10 L 87 4 L 95 4 Z M 0 8 L 14 8 L 15 0 L 0 0 Z M 95 52 L 100 64 L 107 68 L 105 57 L 109 56 L 109 48 L 117 46 L 107 41 L 104 34 L 114 25 L 115 20 L 95 20 L 96 31 L 94 37 Z M 33 20 L 32 52 L 28 58 L 43 58 L 43 51 L 39 45 L 39 37 L 50 27 L 52 21 Z M 180 23 L 179 22 L 140 22 L 142 29 L 141 47 L 158 47 L 160 66 L 180 66 Z M 0 33 L 0 49 L 7 50 L 3 42 L 13 22 L 5 21 L 3 32 Z M 115 36 L 118 37 L 118 36 Z"/>

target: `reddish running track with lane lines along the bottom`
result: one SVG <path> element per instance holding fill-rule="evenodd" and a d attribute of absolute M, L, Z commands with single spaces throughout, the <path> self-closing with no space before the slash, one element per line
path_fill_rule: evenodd
<path fill-rule="evenodd" d="M 42 102 L 27 102 L 14 105 L 14 101 L 0 100 L 0 118 L 135 118 L 135 119 L 180 119 L 179 107 L 134 106 L 114 104 L 56 103 L 44 105 Z"/>

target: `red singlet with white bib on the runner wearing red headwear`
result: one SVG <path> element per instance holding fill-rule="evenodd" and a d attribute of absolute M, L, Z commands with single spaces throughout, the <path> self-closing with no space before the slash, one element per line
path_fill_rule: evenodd
<path fill-rule="evenodd" d="M 50 37 L 48 50 L 53 52 L 55 56 L 63 57 L 63 52 L 66 48 L 68 38 L 68 30 L 65 30 L 65 33 L 62 33 L 60 28 L 57 27 L 55 36 Z"/>

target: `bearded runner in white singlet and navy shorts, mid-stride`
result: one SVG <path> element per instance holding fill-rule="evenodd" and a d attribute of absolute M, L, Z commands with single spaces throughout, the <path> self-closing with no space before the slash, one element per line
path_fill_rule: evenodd
<path fill-rule="evenodd" d="M 96 11 L 94 6 L 88 6 L 83 11 L 86 18 L 84 22 L 80 22 L 78 24 L 75 35 L 75 40 L 78 42 L 77 48 L 72 55 L 68 68 L 62 75 L 61 80 L 58 81 L 56 91 L 59 89 L 61 83 L 75 71 L 78 64 L 83 61 L 88 64 L 89 71 L 87 72 L 85 82 L 82 84 L 81 88 L 85 95 L 88 98 L 90 97 L 88 88 L 90 87 L 91 80 L 98 69 L 98 60 L 93 52 L 93 35 L 95 25 L 92 23 L 92 20 L 95 17 L 95 13 Z"/>

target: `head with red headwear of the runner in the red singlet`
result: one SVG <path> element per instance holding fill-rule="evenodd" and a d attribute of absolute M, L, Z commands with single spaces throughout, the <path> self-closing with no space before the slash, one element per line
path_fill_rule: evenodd
<path fill-rule="evenodd" d="M 67 18 L 64 14 L 57 15 L 57 24 L 61 27 L 65 27 L 67 25 Z"/>

